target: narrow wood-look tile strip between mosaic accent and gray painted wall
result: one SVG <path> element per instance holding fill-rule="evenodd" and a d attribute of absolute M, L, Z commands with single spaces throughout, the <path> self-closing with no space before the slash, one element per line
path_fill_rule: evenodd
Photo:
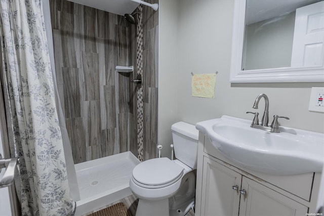
<path fill-rule="evenodd" d="M 155 4 L 158 0 L 149 0 Z M 143 157 L 156 157 L 158 90 L 158 11 L 143 6 Z M 171 128 L 170 128 L 171 130 Z"/>

